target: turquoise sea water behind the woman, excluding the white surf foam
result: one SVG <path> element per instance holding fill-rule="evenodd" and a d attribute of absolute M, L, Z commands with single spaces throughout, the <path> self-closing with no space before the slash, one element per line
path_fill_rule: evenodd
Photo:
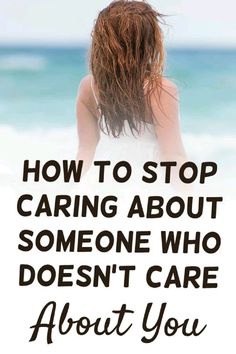
<path fill-rule="evenodd" d="M 0 48 L 0 125 L 75 124 L 87 57 L 86 48 Z M 169 49 L 165 74 L 179 86 L 183 132 L 236 133 L 236 50 Z"/>

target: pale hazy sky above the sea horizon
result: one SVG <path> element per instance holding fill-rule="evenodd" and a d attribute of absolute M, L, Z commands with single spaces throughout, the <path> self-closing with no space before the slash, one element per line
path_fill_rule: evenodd
<path fill-rule="evenodd" d="M 0 0 L 1 44 L 88 43 L 106 0 Z M 150 0 L 169 46 L 236 47 L 235 0 Z"/>

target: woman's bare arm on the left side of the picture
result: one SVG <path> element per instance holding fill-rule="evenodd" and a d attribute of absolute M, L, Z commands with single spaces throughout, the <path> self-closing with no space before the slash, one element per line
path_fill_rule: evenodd
<path fill-rule="evenodd" d="M 83 160 L 83 173 L 93 161 L 100 134 L 97 108 L 91 90 L 91 76 L 86 76 L 81 82 L 76 99 L 76 117 L 78 132 L 77 161 Z"/>

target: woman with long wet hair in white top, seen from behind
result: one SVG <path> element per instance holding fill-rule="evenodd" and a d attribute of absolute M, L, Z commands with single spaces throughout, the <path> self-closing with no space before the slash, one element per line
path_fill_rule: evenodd
<path fill-rule="evenodd" d="M 160 160 L 185 159 L 177 87 L 163 77 L 161 21 L 144 1 L 113 1 L 99 13 L 92 33 L 92 75 L 81 81 L 76 103 L 77 158 L 84 160 L 85 170 L 97 146 L 102 151 L 105 136 L 109 143 L 103 152 L 119 152 L 117 159 L 119 154 L 135 161 L 156 159 L 154 146 Z"/>

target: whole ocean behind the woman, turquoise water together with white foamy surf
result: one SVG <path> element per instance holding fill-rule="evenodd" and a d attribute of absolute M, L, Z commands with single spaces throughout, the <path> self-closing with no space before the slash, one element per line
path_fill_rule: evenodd
<path fill-rule="evenodd" d="M 179 87 L 189 157 L 223 163 L 222 176 L 231 183 L 235 63 L 236 50 L 178 48 L 167 50 L 165 70 Z M 0 47 L 0 173 L 13 174 L 19 158 L 35 157 L 39 150 L 45 158 L 75 157 L 75 97 L 87 73 L 87 48 Z"/>

